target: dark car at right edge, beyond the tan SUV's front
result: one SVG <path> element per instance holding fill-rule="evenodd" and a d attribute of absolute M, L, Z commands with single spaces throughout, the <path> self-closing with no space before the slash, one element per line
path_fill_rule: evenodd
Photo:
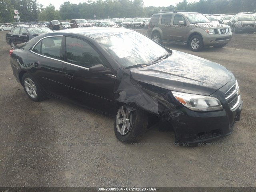
<path fill-rule="evenodd" d="M 230 19 L 228 25 L 234 33 L 256 32 L 256 19 L 252 14 L 237 14 Z"/>

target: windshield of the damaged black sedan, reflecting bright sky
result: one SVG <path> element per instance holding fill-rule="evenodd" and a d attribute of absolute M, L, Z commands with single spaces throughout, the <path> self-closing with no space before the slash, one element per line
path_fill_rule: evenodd
<path fill-rule="evenodd" d="M 138 32 L 126 32 L 96 39 L 124 68 L 150 63 L 168 52 Z"/>

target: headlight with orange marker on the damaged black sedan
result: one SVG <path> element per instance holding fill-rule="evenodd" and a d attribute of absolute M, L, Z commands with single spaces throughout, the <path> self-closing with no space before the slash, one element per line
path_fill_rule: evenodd
<path fill-rule="evenodd" d="M 220 101 L 215 97 L 188 94 L 172 91 L 173 96 L 193 111 L 216 111 L 223 109 Z"/>

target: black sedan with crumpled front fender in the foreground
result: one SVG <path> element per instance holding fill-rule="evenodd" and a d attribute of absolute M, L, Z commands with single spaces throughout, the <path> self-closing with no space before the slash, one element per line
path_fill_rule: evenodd
<path fill-rule="evenodd" d="M 28 97 L 51 95 L 115 115 L 122 142 L 138 142 L 160 117 L 175 142 L 231 134 L 242 110 L 240 89 L 223 66 L 170 50 L 124 28 L 76 28 L 42 34 L 10 50 Z"/>

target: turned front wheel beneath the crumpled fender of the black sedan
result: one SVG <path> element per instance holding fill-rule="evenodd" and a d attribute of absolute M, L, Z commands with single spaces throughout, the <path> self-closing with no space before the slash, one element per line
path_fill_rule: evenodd
<path fill-rule="evenodd" d="M 125 143 L 135 143 L 140 141 L 148 126 L 148 113 L 136 109 L 128 110 L 129 106 L 119 107 L 114 125 L 116 138 Z"/>

